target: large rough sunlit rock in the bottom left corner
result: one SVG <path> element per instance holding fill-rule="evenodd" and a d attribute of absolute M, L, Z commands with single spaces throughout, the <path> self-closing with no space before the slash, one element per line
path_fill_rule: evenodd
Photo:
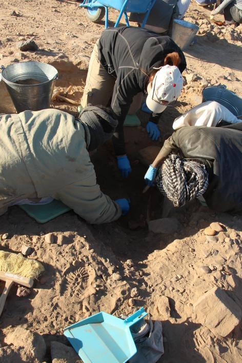
<path fill-rule="evenodd" d="M 6 336 L 5 342 L 21 348 L 24 361 L 44 361 L 46 344 L 44 338 L 38 333 L 18 327 Z"/>

